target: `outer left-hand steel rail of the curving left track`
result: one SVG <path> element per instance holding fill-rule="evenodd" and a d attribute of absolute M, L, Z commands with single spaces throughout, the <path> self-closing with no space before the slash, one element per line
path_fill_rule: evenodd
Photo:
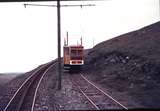
<path fill-rule="evenodd" d="M 22 87 L 32 78 L 34 77 L 34 75 L 37 74 L 38 71 L 40 71 L 42 68 L 45 68 L 47 65 L 51 64 L 54 61 L 51 61 L 43 66 L 40 66 L 40 68 L 38 68 L 37 70 L 35 70 L 32 75 L 30 75 L 22 84 L 21 86 L 18 88 L 18 90 L 15 92 L 15 94 L 12 96 L 12 98 L 10 99 L 10 101 L 8 102 L 8 104 L 6 105 L 5 109 L 3 111 L 7 111 L 7 109 L 9 108 L 9 106 L 11 105 L 12 101 L 14 100 L 14 98 L 16 97 L 16 95 L 20 92 L 20 90 L 22 89 Z"/>

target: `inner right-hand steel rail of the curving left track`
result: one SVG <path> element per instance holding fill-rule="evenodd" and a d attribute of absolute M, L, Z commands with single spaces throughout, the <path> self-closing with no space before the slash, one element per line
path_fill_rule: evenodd
<path fill-rule="evenodd" d="M 35 90 L 35 93 L 34 93 L 34 98 L 33 98 L 33 102 L 32 102 L 32 108 L 31 108 L 31 111 L 34 111 L 34 105 L 35 105 L 35 102 L 36 102 L 36 97 L 37 97 L 37 92 L 38 92 L 38 89 L 39 89 L 39 86 L 41 84 L 41 81 L 43 79 L 43 77 L 45 76 L 45 74 L 48 72 L 48 70 L 50 70 L 56 63 L 52 64 L 48 69 L 46 69 L 46 71 L 43 73 L 43 75 L 41 76 L 39 82 L 38 82 L 38 85 L 36 87 L 36 90 Z"/>

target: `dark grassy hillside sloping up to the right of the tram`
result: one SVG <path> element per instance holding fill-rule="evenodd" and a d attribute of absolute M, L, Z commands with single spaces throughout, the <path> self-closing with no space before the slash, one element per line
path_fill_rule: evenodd
<path fill-rule="evenodd" d="M 131 95 L 145 108 L 160 108 L 160 22 L 96 45 L 84 70 L 106 88 Z"/>

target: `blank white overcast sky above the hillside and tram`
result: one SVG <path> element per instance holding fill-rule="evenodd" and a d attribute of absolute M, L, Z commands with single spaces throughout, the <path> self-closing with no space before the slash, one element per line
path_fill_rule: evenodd
<path fill-rule="evenodd" d="M 30 2 L 32 3 L 32 2 Z M 56 2 L 33 2 L 56 5 Z M 118 35 L 159 21 L 159 0 L 103 0 L 61 2 L 95 4 L 61 8 L 62 46 L 66 32 L 69 45 L 86 49 Z M 57 10 L 55 7 L 0 3 L 0 73 L 26 72 L 57 58 Z"/>

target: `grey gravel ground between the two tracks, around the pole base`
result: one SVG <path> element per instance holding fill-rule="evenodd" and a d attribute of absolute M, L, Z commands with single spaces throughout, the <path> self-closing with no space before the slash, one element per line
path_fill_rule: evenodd
<path fill-rule="evenodd" d="M 70 74 L 62 74 L 62 89 L 58 89 L 57 64 L 44 76 L 35 104 L 35 111 L 92 110 L 90 103 L 73 86 Z"/>

